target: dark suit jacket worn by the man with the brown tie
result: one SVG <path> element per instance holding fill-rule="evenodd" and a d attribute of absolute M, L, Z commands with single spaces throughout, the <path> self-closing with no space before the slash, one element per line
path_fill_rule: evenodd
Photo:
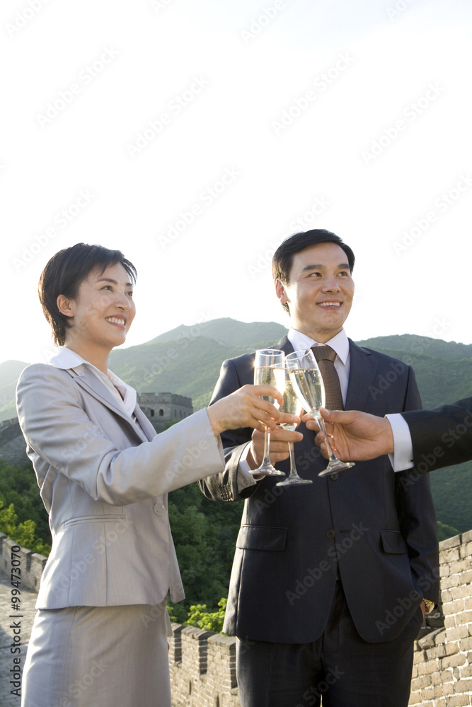
<path fill-rule="evenodd" d="M 287 337 L 275 348 L 293 351 Z M 224 361 L 212 402 L 253 382 L 254 354 Z M 410 366 L 350 341 L 346 409 L 375 415 L 420 407 Z M 436 518 L 427 476 L 395 474 L 388 457 L 356 462 L 327 478 L 314 443 L 295 445 L 301 476 L 313 484 L 277 487 L 265 477 L 238 493 L 238 462 L 250 428 L 224 433 L 224 472 L 200 481 L 214 501 L 246 503 L 236 542 L 224 631 L 240 638 L 310 643 L 328 619 L 339 570 L 347 604 L 365 641 L 389 641 L 438 598 Z M 288 461 L 280 463 L 288 473 Z M 408 481 L 408 484 L 405 483 Z"/>

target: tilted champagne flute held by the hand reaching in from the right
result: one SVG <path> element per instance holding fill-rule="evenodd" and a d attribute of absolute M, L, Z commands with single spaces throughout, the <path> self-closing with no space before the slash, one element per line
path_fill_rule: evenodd
<path fill-rule="evenodd" d="M 325 407 L 325 387 L 321 371 L 318 368 L 315 355 L 311 349 L 294 351 L 285 358 L 285 365 L 289 370 L 290 380 L 294 391 L 299 397 L 304 409 L 316 420 L 319 428 L 326 434 L 325 421 L 320 415 L 320 408 Z M 342 462 L 331 449 L 328 435 L 326 434 L 326 449 L 328 450 L 329 462 L 326 469 L 318 474 L 318 477 L 325 477 L 341 469 L 350 469 L 354 462 Z"/>

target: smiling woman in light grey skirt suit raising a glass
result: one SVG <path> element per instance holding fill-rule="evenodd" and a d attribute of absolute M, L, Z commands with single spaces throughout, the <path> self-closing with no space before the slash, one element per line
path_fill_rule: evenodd
<path fill-rule="evenodd" d="M 280 414 L 245 386 L 156 435 L 136 392 L 108 370 L 135 308 L 134 266 L 79 243 L 58 252 L 40 300 L 62 346 L 23 370 L 18 417 L 52 551 L 28 645 L 22 705 L 170 707 L 166 600 L 183 599 L 167 493 L 224 469 L 219 433 Z M 261 414 L 261 409 L 263 414 Z"/>

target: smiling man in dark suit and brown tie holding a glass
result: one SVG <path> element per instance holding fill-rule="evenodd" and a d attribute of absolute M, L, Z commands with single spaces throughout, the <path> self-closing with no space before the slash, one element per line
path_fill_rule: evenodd
<path fill-rule="evenodd" d="M 272 271 L 292 327 L 275 348 L 333 349 L 346 409 L 418 409 L 412 368 L 346 337 L 353 266 L 350 247 L 326 230 L 280 245 Z M 212 402 L 253 375 L 254 354 L 224 361 Z M 297 467 L 313 483 L 275 486 L 280 477 L 248 473 L 263 456 L 262 433 L 251 433 L 222 436 L 226 468 L 200 481 L 215 501 L 246 499 L 223 629 L 238 638 L 241 705 L 406 706 L 423 600 L 432 606 L 438 598 L 428 478 L 411 484 L 388 457 L 319 478 L 326 462 L 302 423 L 299 432 L 271 433 L 270 457 L 286 460 L 287 441 L 299 440 Z"/>

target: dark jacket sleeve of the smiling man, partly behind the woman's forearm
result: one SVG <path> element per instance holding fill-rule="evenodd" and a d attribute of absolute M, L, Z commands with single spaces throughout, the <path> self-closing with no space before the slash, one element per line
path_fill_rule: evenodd
<path fill-rule="evenodd" d="M 224 361 L 221 366 L 219 379 L 215 386 L 210 405 L 217 402 L 226 395 L 238 390 L 246 383 L 252 383 L 254 374 L 251 362 L 253 356 L 243 356 L 238 362 L 234 359 Z M 224 448 L 225 469 L 219 474 L 206 477 L 199 481 L 202 493 L 212 501 L 239 501 L 241 498 L 251 496 L 255 490 L 255 485 L 238 491 L 238 466 L 241 454 L 248 442 L 251 441 L 253 430 L 251 427 L 243 427 L 237 430 L 227 430 L 221 434 L 221 442 Z"/>

